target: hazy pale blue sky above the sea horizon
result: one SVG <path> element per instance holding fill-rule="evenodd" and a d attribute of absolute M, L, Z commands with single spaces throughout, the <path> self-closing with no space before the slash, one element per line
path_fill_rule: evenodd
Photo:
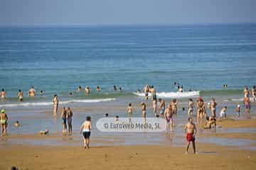
<path fill-rule="evenodd" d="M 0 26 L 256 23 L 256 0 L 0 0 Z"/>

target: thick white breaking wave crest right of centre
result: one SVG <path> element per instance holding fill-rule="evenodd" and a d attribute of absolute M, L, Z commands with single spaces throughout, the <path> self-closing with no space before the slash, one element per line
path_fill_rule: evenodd
<path fill-rule="evenodd" d="M 162 98 L 186 98 L 186 97 L 193 97 L 193 96 L 199 96 L 200 91 L 185 91 L 185 92 L 159 92 L 156 93 L 156 96 L 162 97 Z M 145 96 L 144 93 L 133 93 L 137 96 Z M 151 94 L 149 93 L 149 96 Z"/>

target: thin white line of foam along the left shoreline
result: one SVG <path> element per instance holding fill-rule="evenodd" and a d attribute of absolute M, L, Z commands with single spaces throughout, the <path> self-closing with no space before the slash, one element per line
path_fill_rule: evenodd
<path fill-rule="evenodd" d="M 86 99 L 86 100 L 70 100 L 70 101 L 60 101 L 60 104 L 68 103 L 100 103 L 106 101 L 115 101 L 116 98 L 100 98 L 100 99 Z M 7 103 L 2 104 L 0 107 L 16 107 L 16 106 L 50 106 L 53 102 L 26 102 L 26 103 Z"/>

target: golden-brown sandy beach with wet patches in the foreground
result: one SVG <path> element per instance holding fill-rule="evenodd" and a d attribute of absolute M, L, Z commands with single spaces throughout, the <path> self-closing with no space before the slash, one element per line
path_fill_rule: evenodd
<path fill-rule="evenodd" d="M 218 125 L 223 128 L 256 128 L 255 120 L 223 120 L 218 122 Z M 35 134 L 10 135 L 6 138 L 43 141 L 58 137 L 58 134 Z M 250 139 L 254 142 L 253 146 L 256 144 L 255 133 L 216 133 L 208 137 Z M 105 137 L 95 137 L 92 144 L 102 143 L 104 140 Z M 114 140 L 112 142 L 115 142 Z M 90 149 L 83 149 L 82 141 L 74 142 L 80 142 L 81 146 L 1 145 L 0 169 L 10 169 L 11 166 L 18 169 L 252 169 L 256 165 L 255 149 L 202 142 L 197 142 L 198 154 L 192 154 L 192 149 L 185 154 L 185 146 L 118 146 L 112 145 L 112 142 L 105 142 L 101 146 L 92 145 Z"/>

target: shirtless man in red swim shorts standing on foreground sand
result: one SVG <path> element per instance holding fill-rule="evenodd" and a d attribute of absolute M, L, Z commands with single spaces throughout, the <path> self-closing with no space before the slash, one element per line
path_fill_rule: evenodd
<path fill-rule="evenodd" d="M 195 144 L 196 125 L 193 124 L 192 118 L 188 118 L 188 123 L 185 125 L 184 130 L 186 133 L 186 140 L 188 141 L 188 146 L 186 147 L 186 154 L 188 154 L 188 148 L 191 142 L 193 145 L 193 152 L 194 154 L 196 154 L 196 144 Z"/>

